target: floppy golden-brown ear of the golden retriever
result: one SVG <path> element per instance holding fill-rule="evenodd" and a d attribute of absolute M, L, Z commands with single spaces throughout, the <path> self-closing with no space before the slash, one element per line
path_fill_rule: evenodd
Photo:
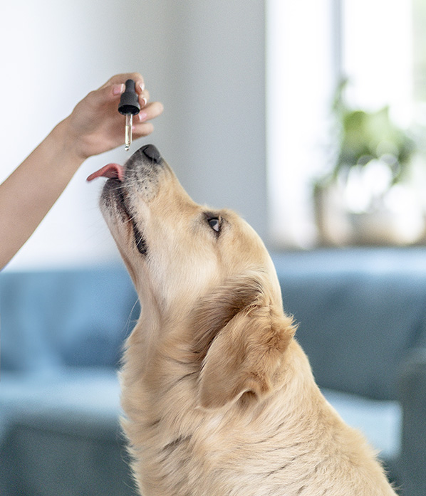
<path fill-rule="evenodd" d="M 221 408 L 244 394 L 263 399 L 279 380 L 284 352 L 296 332 L 293 320 L 274 309 L 254 278 L 231 281 L 212 296 L 204 322 L 199 319 L 204 337 L 199 404 Z"/>

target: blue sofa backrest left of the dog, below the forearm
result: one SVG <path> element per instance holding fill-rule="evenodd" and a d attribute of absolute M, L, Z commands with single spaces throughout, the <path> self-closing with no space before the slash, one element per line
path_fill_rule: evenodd
<path fill-rule="evenodd" d="M 1 369 L 115 366 L 138 317 L 136 302 L 121 265 L 2 273 Z"/>

